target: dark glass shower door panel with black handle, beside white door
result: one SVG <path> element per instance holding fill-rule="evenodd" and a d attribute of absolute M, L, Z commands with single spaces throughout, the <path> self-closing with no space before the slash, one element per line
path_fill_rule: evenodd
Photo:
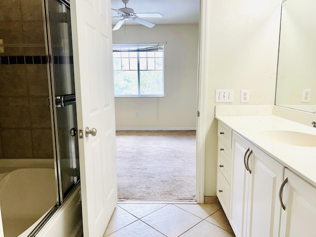
<path fill-rule="evenodd" d="M 79 182 L 76 93 L 69 2 L 46 0 L 60 203 Z"/>

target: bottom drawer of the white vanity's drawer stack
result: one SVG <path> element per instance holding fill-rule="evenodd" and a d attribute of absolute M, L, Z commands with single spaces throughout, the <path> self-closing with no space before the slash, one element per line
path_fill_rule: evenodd
<path fill-rule="evenodd" d="M 220 201 L 227 217 L 229 215 L 229 194 L 230 185 L 224 178 L 219 168 L 217 168 L 217 198 Z"/>

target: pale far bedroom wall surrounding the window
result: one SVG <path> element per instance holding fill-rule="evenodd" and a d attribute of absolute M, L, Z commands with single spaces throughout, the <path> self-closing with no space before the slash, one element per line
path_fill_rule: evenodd
<path fill-rule="evenodd" d="M 195 128 L 198 25 L 123 25 L 113 32 L 113 43 L 133 42 L 165 42 L 165 96 L 116 97 L 117 129 Z"/>

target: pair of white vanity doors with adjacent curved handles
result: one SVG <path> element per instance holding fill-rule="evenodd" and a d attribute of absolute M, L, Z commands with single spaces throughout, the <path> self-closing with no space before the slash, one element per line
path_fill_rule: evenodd
<path fill-rule="evenodd" d="M 277 237 L 283 166 L 237 133 L 232 135 L 229 221 L 237 237 Z"/>

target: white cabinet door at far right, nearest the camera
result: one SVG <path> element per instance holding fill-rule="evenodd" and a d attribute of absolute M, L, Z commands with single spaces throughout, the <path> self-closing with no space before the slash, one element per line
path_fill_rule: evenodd
<path fill-rule="evenodd" d="M 316 223 L 316 187 L 285 169 L 281 209 L 280 236 L 312 237 Z"/>

